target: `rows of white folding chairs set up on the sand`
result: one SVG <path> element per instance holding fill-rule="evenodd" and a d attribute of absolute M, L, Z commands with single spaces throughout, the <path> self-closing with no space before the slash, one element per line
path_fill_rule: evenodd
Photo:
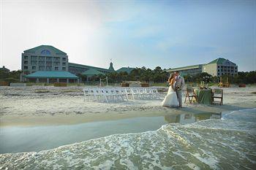
<path fill-rule="evenodd" d="M 159 99 L 156 88 L 83 88 L 84 101 L 129 101 Z"/>

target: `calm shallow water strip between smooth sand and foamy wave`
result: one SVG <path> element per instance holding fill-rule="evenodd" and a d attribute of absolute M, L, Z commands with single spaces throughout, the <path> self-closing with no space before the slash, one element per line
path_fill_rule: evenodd
<path fill-rule="evenodd" d="M 41 125 L 31 127 L 1 128 L 0 154 L 7 152 L 31 152 L 49 150 L 66 144 L 112 134 L 156 131 L 167 123 L 194 123 L 199 120 L 220 118 L 216 113 L 166 115 L 157 117 L 133 117 L 75 125 Z"/>

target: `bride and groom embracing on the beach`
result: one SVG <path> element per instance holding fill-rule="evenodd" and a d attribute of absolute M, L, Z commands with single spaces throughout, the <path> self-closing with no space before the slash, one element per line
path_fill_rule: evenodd
<path fill-rule="evenodd" d="M 173 72 L 168 79 L 169 90 L 164 101 L 162 101 L 163 107 L 182 107 L 182 95 L 181 90 L 185 86 L 184 78 L 179 75 L 179 72 Z"/>

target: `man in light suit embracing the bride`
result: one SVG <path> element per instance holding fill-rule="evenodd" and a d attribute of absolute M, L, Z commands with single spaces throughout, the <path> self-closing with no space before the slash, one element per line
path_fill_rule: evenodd
<path fill-rule="evenodd" d="M 184 78 L 180 76 L 179 72 L 176 71 L 174 72 L 174 75 L 176 76 L 176 85 L 175 85 L 175 90 L 178 98 L 178 107 L 182 107 L 182 95 L 181 95 L 181 90 L 185 86 L 185 81 Z"/>

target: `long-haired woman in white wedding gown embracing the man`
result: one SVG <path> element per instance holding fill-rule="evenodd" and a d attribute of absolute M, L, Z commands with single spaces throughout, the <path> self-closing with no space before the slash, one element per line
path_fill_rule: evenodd
<path fill-rule="evenodd" d="M 162 101 L 163 107 L 178 107 L 178 98 L 175 91 L 176 87 L 176 79 L 174 74 L 170 74 L 170 77 L 168 79 L 169 82 L 169 90 L 167 95 L 165 96 L 164 101 Z"/>

